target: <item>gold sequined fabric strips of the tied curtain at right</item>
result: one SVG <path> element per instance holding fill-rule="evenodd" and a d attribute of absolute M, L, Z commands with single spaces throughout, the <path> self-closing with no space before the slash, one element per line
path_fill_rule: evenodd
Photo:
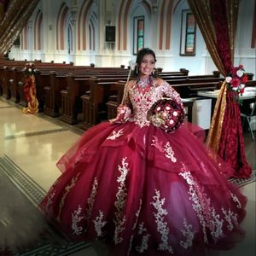
<path fill-rule="evenodd" d="M 212 61 L 218 68 L 218 71 L 226 76 L 229 71 L 225 67 L 224 62 L 218 53 L 216 30 L 212 20 L 211 1 L 214 0 L 188 0 L 188 3 L 193 15 L 195 15 L 195 20 L 200 27 L 202 36 L 205 39 L 207 49 L 212 56 Z M 239 0 L 224 0 L 224 2 L 226 6 L 227 26 L 230 38 L 230 57 L 233 63 Z M 218 101 L 214 108 L 212 123 L 207 137 L 207 145 L 216 153 L 218 153 L 218 144 L 224 119 L 224 84 L 222 85 L 221 91 L 223 93 L 218 95 Z"/>

